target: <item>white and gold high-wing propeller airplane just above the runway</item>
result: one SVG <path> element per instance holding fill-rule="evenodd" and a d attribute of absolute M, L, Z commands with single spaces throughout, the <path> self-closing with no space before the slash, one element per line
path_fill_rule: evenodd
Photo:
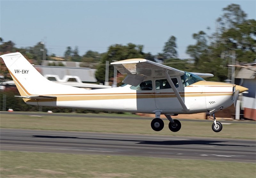
<path fill-rule="evenodd" d="M 177 132 L 178 114 L 209 112 L 213 116 L 212 130 L 220 132 L 222 124 L 214 113 L 236 104 L 245 87 L 205 81 L 213 74 L 189 73 L 147 59 L 126 59 L 111 64 L 126 74 L 124 85 L 116 88 L 85 90 L 54 83 L 44 78 L 19 52 L 0 56 L 7 66 L 20 96 L 36 106 L 70 107 L 91 110 L 155 113 L 151 128 L 160 131 L 164 114 L 169 129 Z"/>

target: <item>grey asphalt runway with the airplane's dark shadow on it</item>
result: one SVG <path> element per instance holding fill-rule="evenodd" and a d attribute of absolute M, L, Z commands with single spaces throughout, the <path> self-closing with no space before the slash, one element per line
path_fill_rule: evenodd
<path fill-rule="evenodd" d="M 1 151 L 256 162 L 254 140 L 5 128 L 0 134 Z"/>

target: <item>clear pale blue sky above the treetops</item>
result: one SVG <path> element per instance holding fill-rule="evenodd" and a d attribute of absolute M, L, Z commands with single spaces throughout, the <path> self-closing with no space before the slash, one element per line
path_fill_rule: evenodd
<path fill-rule="evenodd" d="M 179 58 L 188 58 L 188 45 L 196 43 L 192 35 L 201 30 L 211 35 L 222 9 L 232 3 L 247 19 L 256 19 L 255 0 L 0 0 L 0 36 L 18 48 L 43 41 L 48 55 L 64 56 L 68 46 L 78 46 L 82 56 L 127 43 L 156 55 L 173 35 Z"/>

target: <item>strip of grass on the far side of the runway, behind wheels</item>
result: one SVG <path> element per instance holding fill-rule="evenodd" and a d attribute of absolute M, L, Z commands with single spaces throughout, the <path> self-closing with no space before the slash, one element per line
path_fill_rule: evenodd
<path fill-rule="evenodd" d="M 42 116 L 32 117 L 28 115 L 1 114 L 1 128 L 22 128 L 41 130 L 63 130 L 84 132 L 108 132 L 147 135 L 169 136 L 199 136 L 220 138 L 256 139 L 255 123 L 232 123 L 223 125 L 219 133 L 212 131 L 212 122 L 197 122 L 180 120 L 182 127 L 179 132 L 171 132 L 168 128 L 168 120 L 164 119 L 165 127 L 160 132 L 151 129 L 151 120 L 138 119 L 112 119 L 90 117 L 64 117 Z"/>

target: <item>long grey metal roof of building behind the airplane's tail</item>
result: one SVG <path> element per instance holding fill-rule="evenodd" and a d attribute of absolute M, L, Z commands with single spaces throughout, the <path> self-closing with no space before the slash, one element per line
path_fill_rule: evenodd
<path fill-rule="evenodd" d="M 65 75 L 78 76 L 83 82 L 97 82 L 95 78 L 96 69 L 85 67 L 62 67 L 62 66 L 35 66 L 41 70 L 41 74 L 58 75 L 63 79 Z"/>

